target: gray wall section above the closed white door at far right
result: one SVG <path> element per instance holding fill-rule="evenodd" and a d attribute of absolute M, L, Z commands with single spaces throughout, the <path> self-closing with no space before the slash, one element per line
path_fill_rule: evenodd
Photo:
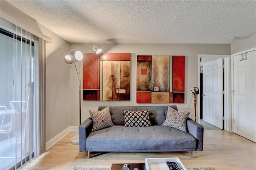
<path fill-rule="evenodd" d="M 256 47 L 256 34 L 231 44 L 231 54 Z"/>

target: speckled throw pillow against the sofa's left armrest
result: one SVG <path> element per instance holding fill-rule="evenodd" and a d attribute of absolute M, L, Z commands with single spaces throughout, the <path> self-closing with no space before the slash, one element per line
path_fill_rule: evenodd
<path fill-rule="evenodd" d="M 111 119 L 109 107 L 106 107 L 105 109 L 103 109 L 101 111 L 89 110 L 89 112 L 90 112 L 90 115 L 92 117 L 92 122 L 93 122 L 92 132 L 94 132 L 96 130 L 100 130 L 105 127 L 114 126 L 112 119 Z"/>

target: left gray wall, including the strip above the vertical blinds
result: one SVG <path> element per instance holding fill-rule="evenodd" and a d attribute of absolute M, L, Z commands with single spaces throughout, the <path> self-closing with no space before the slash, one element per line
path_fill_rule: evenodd
<path fill-rule="evenodd" d="M 5 1 L 0 1 L 1 18 L 46 40 L 46 141 L 68 128 L 70 121 L 70 68 L 64 56 L 70 44 Z"/>

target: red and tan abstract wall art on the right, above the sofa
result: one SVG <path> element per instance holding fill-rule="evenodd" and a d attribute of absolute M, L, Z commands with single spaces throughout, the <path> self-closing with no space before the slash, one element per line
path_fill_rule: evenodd
<path fill-rule="evenodd" d="M 137 103 L 184 103 L 185 56 L 137 55 Z"/>

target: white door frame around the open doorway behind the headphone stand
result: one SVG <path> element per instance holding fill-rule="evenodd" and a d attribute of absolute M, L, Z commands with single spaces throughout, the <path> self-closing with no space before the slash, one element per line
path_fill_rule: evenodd
<path fill-rule="evenodd" d="M 232 128 L 231 124 L 231 62 L 230 58 L 231 56 L 228 55 L 212 55 L 212 54 L 198 54 L 198 88 L 200 89 L 200 59 L 201 58 L 211 58 L 212 59 L 217 59 L 217 58 L 222 58 L 224 60 L 224 130 L 230 132 Z M 200 96 L 201 94 L 198 95 L 198 101 L 200 101 Z M 196 120 L 198 120 L 198 123 L 200 123 L 200 102 L 198 102 L 198 107 L 197 107 L 197 113 L 196 114 Z M 199 117 L 198 117 L 199 115 Z"/>

